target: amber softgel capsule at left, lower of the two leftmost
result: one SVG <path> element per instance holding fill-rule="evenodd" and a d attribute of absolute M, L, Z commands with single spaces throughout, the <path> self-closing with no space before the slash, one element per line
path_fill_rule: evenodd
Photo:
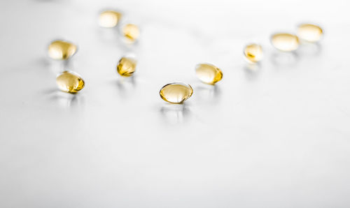
<path fill-rule="evenodd" d="M 80 75 L 65 70 L 56 77 L 57 86 L 60 90 L 76 93 L 84 88 L 85 82 Z"/>

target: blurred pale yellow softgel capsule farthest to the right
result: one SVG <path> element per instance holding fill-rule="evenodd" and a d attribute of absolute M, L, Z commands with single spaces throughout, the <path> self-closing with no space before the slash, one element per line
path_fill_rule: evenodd
<path fill-rule="evenodd" d="M 315 24 L 300 24 L 299 27 L 297 27 L 297 36 L 301 40 L 315 43 L 321 40 L 323 30 Z"/>

